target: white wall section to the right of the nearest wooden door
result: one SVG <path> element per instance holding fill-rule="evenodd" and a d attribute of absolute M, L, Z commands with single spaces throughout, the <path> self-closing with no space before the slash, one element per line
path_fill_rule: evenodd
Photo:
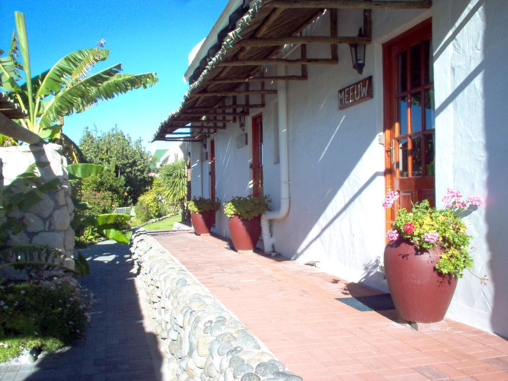
<path fill-rule="evenodd" d="M 473 273 L 458 283 L 448 316 L 508 336 L 505 139 L 508 3 L 434 2 L 436 195 L 454 187 L 486 205 L 467 217 Z"/>

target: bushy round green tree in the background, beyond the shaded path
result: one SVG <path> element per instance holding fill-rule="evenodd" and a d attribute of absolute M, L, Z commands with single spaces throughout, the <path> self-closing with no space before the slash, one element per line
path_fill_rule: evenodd
<path fill-rule="evenodd" d="M 116 178 L 123 178 L 122 205 L 135 205 L 139 196 L 150 187 L 152 177 L 148 173 L 153 160 L 152 155 L 144 150 L 141 139 L 133 141 L 116 126 L 101 135 L 97 129 L 92 133 L 85 128 L 79 146 L 89 163 L 103 165 Z M 109 185 L 113 188 L 116 186 L 113 181 Z M 109 190 L 114 193 L 106 186 L 93 190 Z"/>

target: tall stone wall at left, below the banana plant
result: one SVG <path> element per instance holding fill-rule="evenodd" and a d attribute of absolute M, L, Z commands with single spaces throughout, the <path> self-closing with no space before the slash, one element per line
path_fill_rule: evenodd
<path fill-rule="evenodd" d="M 42 201 L 29 210 L 18 210 L 9 215 L 22 218 L 27 227 L 23 232 L 12 236 L 8 244 L 34 243 L 51 246 L 65 253 L 65 266 L 74 268 L 74 261 L 71 259 L 74 231 L 70 227 L 74 204 L 70 198 L 67 160 L 62 156 L 62 147 L 56 144 L 37 144 L 0 148 L 2 185 L 10 184 L 36 161 L 49 162 L 49 166 L 39 169 L 40 175 L 44 181 L 57 177 L 61 186 L 54 192 L 41 195 Z"/>

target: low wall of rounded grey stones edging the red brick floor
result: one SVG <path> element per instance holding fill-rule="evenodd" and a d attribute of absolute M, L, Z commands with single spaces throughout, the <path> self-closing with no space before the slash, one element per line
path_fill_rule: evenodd
<path fill-rule="evenodd" d="M 133 233 L 131 252 L 171 379 L 302 380 L 144 229 Z"/>

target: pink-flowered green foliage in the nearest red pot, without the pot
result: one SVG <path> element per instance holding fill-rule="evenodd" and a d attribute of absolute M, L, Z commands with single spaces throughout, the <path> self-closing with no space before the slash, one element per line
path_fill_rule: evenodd
<path fill-rule="evenodd" d="M 383 203 L 385 209 L 391 208 L 398 198 L 397 192 L 388 192 Z M 412 205 L 410 211 L 399 209 L 392 222 L 393 228 L 386 236 L 391 241 L 408 240 L 420 250 L 441 246 L 443 252 L 436 269 L 460 278 L 473 263 L 468 252 L 472 237 L 466 234 L 462 216 L 481 206 L 482 200 L 477 196 L 468 196 L 464 200 L 457 190 L 448 188 L 442 201 L 442 209 L 430 207 L 428 200 Z M 484 276 L 481 280 L 484 282 L 487 278 Z"/>

